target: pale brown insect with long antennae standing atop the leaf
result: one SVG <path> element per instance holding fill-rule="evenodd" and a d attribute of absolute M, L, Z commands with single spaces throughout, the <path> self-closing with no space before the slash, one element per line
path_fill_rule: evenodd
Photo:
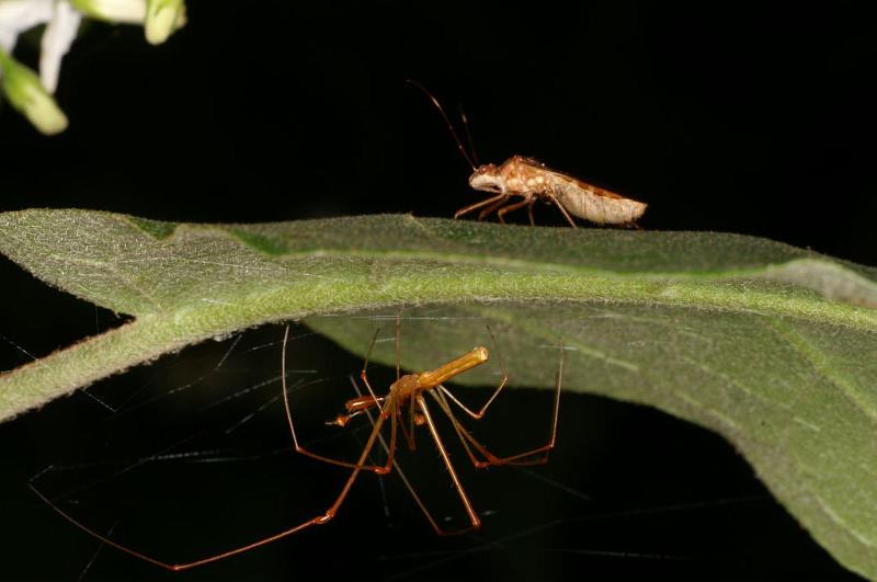
<path fill-rule="evenodd" d="M 480 209 L 478 219 L 497 213 L 500 222 L 505 222 L 505 215 L 526 206 L 529 224 L 533 220 L 533 205 L 536 201 L 554 204 L 563 215 L 563 218 L 576 228 L 573 216 L 583 218 L 597 225 L 613 225 L 622 227 L 636 227 L 636 221 L 646 212 L 647 204 L 628 198 L 615 192 L 610 192 L 593 184 L 589 184 L 578 178 L 572 178 L 563 172 L 551 170 L 535 158 L 524 156 L 512 156 L 500 166 L 492 163 L 477 164 L 475 148 L 469 147 L 471 155 L 463 147 L 454 125 L 445 114 L 438 100 L 433 96 L 423 85 L 415 81 L 408 81 L 424 93 L 438 109 L 451 134 L 457 142 L 463 157 L 472 169 L 469 176 L 469 185 L 481 192 L 493 194 L 475 204 L 460 208 L 454 214 L 454 218 Z M 466 116 L 462 115 L 468 135 Z M 512 198 L 520 197 L 520 201 L 512 202 Z"/>

